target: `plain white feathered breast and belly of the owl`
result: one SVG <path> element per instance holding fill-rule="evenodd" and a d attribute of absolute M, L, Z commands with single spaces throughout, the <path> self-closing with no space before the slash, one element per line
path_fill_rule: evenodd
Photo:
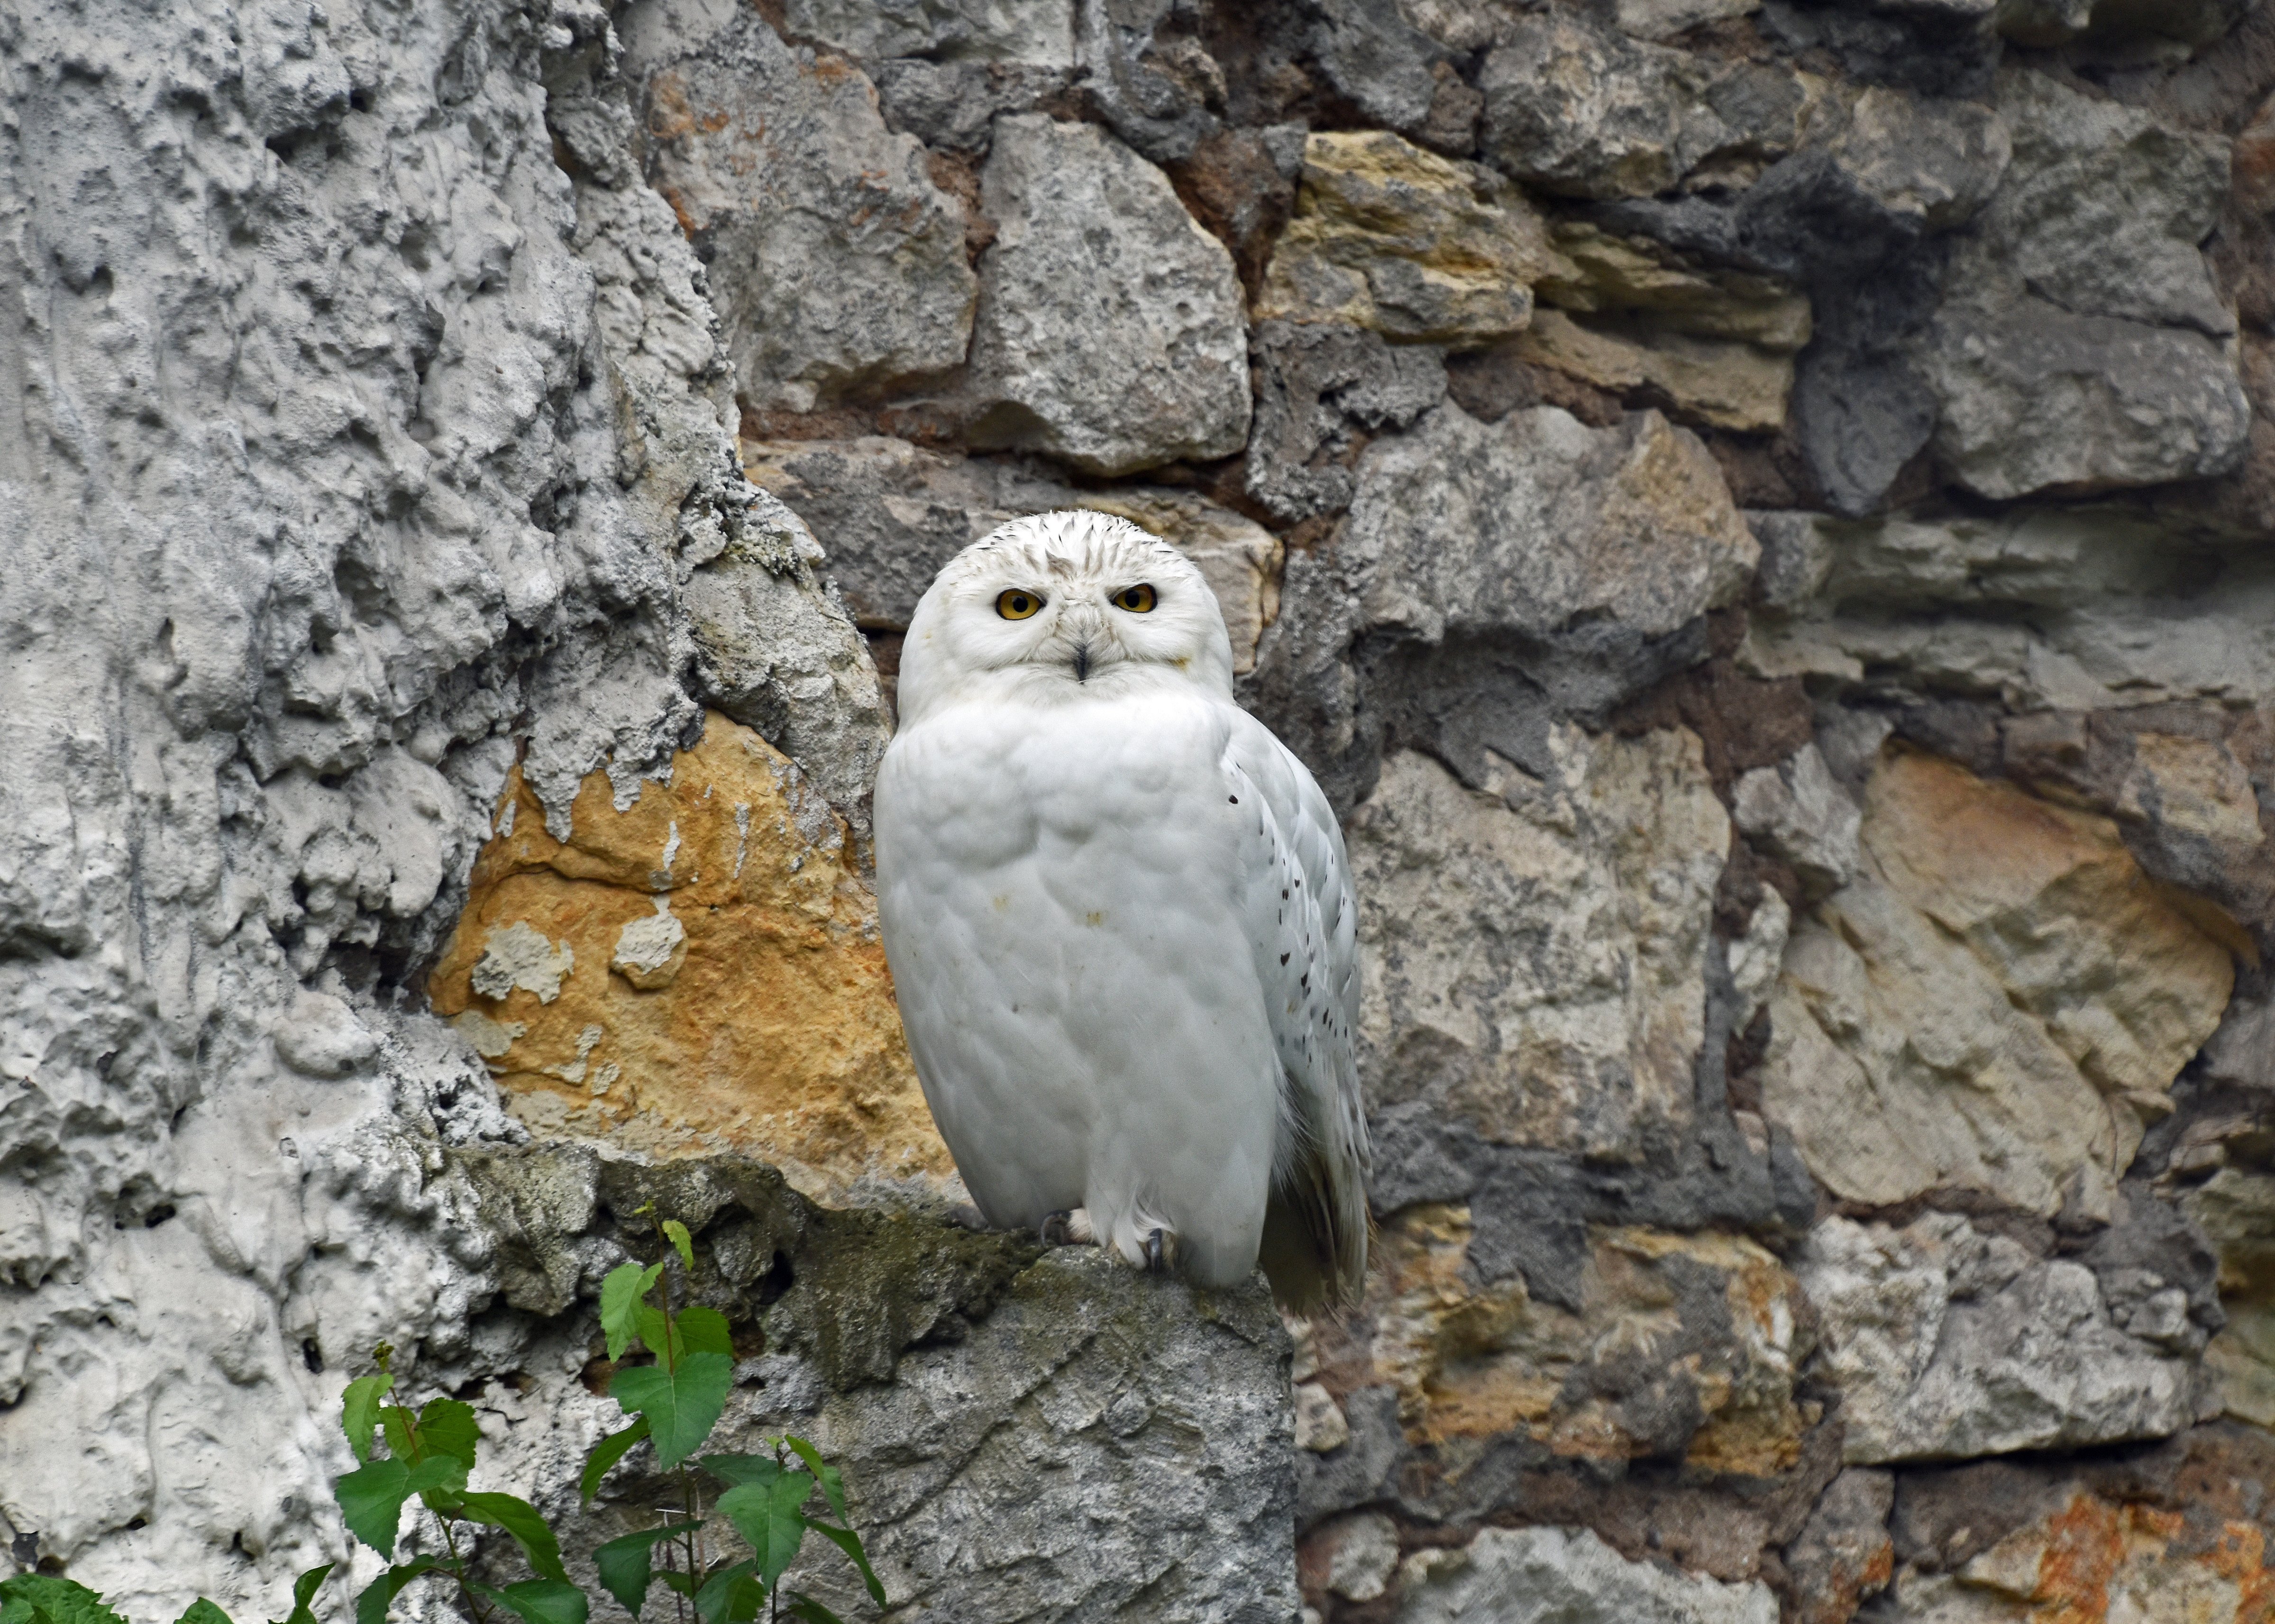
<path fill-rule="evenodd" d="M 878 903 L 910 1053 L 996 1224 L 1256 1265 L 1279 1062 L 1213 705 L 951 710 L 894 739 Z"/>

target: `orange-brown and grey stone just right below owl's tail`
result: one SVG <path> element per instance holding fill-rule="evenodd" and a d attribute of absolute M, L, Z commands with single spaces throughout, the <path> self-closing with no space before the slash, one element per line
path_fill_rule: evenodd
<path fill-rule="evenodd" d="M 1458 1205 L 1406 1208 L 1379 1251 L 1358 1315 L 1315 1335 L 1335 1342 L 1338 1381 L 1395 1394 L 1410 1444 L 1458 1458 L 1524 1437 L 1565 1458 L 1745 1476 L 1800 1460 L 1793 1387 L 1811 1337 L 1793 1276 L 1749 1240 L 1597 1226 L 1572 1308 L 1522 1278 L 1481 1283 Z"/>

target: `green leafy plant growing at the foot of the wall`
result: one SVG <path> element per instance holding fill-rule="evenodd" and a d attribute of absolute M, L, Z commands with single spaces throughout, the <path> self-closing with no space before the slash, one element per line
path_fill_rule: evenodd
<path fill-rule="evenodd" d="M 653 1219 L 648 1208 L 642 1212 Z M 632 1617 L 639 1617 L 651 1585 L 662 1583 L 676 1592 L 682 1624 L 689 1613 L 698 1624 L 751 1624 L 760 1608 L 767 1608 L 771 1624 L 780 1624 L 783 1613 L 805 1624 L 842 1624 L 803 1590 L 780 1588 L 805 1535 L 819 1533 L 853 1560 L 869 1599 L 885 1606 L 885 1588 L 869 1567 L 869 1553 L 846 1515 L 844 1478 L 810 1442 L 783 1435 L 771 1440 L 771 1453 L 762 1456 L 696 1456 L 710 1442 L 735 1385 L 735 1347 L 719 1310 L 671 1308 L 667 1281 L 671 1253 L 678 1253 L 682 1271 L 692 1276 L 694 1240 L 687 1226 L 673 1219 L 657 1221 L 655 1231 L 671 1249 L 662 1260 L 646 1267 L 626 1262 L 601 1283 L 601 1331 L 607 1337 L 607 1358 L 617 1365 L 610 1397 L 632 1424 L 594 1447 L 578 1492 L 589 1506 L 610 1467 L 637 1442 L 648 1440 L 655 1447 L 655 1465 L 676 1474 L 680 1515 L 596 1547 L 592 1560 L 601 1588 Z M 648 1353 L 653 1362 L 626 1365 L 632 1353 Z M 341 1431 L 359 1465 L 332 1481 L 332 1494 L 348 1531 L 389 1560 L 389 1569 L 355 1599 L 355 1624 L 387 1624 L 387 1610 L 405 1585 L 428 1574 L 441 1574 L 457 1585 L 460 1601 L 475 1624 L 494 1624 L 500 1608 L 521 1624 L 585 1624 L 589 1601 L 569 1581 L 560 1540 L 544 1515 L 514 1494 L 466 1488 L 482 1444 L 473 1406 L 448 1397 L 428 1399 L 419 1410 L 387 1403 L 396 1390 L 391 1358 L 394 1349 L 382 1342 L 373 1353 L 378 1372 L 350 1381 L 339 1406 Z M 712 1510 L 733 1524 L 751 1547 L 751 1556 L 728 1560 L 708 1549 L 703 1478 L 719 1485 Z M 817 1494 L 837 1522 L 808 1515 L 805 1508 Z M 414 1499 L 432 1513 L 446 1556 L 394 1563 L 403 1510 Z M 466 1572 L 473 1547 L 471 1540 L 460 1544 L 457 1524 L 510 1533 L 530 1565 L 530 1579 L 510 1585 L 473 1579 Z M 471 1535 L 471 1528 L 466 1533 Z M 332 1563 L 300 1574 L 293 1581 L 291 1615 L 278 1624 L 316 1624 L 309 1604 L 330 1574 Z M 111 1613 L 100 1594 L 71 1579 L 18 1574 L 0 1581 L 0 1624 L 125 1624 L 125 1619 Z M 230 1615 L 198 1597 L 175 1624 L 230 1624 Z"/>

